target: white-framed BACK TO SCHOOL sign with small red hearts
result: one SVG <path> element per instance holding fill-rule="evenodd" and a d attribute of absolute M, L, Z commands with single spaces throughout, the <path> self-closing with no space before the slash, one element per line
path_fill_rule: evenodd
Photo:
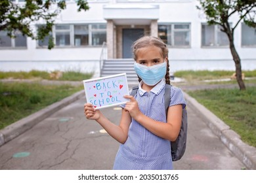
<path fill-rule="evenodd" d="M 96 109 L 127 103 L 129 95 L 126 73 L 83 80 L 87 103 Z"/>

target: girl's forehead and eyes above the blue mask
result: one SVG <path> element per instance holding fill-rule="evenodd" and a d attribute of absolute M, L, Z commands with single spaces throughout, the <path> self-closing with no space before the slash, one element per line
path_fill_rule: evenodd
<path fill-rule="evenodd" d="M 139 48 L 137 50 L 137 60 L 136 62 L 145 66 L 153 66 L 163 63 L 165 59 L 161 54 L 161 49 L 157 46 L 147 46 L 144 48 Z"/>

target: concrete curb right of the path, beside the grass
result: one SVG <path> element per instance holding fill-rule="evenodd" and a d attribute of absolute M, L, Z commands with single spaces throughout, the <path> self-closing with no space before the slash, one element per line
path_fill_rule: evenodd
<path fill-rule="evenodd" d="M 240 135 L 230 129 L 221 119 L 219 119 L 210 110 L 198 103 L 196 99 L 190 97 L 186 92 L 184 97 L 186 98 L 187 105 L 190 105 L 196 110 L 196 114 L 203 118 L 203 121 L 207 126 L 217 135 L 223 144 L 234 153 L 234 155 L 244 163 L 247 169 L 256 169 L 256 148 L 245 144 L 241 140 Z"/>

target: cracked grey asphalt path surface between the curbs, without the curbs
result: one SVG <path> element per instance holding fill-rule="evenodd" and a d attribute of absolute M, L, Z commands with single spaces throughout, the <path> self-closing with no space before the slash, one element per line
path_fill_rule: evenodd
<path fill-rule="evenodd" d="M 1 146 L 0 169 L 112 169 L 119 142 L 84 117 L 84 103 L 85 97 L 78 99 Z M 244 169 L 194 109 L 188 105 L 187 110 L 186 152 L 174 162 L 175 169 Z M 119 107 L 104 108 L 102 112 L 119 123 Z"/>

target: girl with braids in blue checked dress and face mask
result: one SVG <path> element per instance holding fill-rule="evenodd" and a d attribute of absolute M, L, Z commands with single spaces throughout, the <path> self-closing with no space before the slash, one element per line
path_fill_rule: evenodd
<path fill-rule="evenodd" d="M 168 48 L 157 37 L 144 36 L 133 44 L 139 90 L 124 105 L 119 125 L 110 122 L 91 103 L 84 107 L 87 119 L 98 124 L 121 143 L 114 169 L 173 169 L 169 141 L 179 135 L 186 102 L 179 88 L 171 87 L 171 102 L 164 104 L 164 88 L 170 84 Z"/>

